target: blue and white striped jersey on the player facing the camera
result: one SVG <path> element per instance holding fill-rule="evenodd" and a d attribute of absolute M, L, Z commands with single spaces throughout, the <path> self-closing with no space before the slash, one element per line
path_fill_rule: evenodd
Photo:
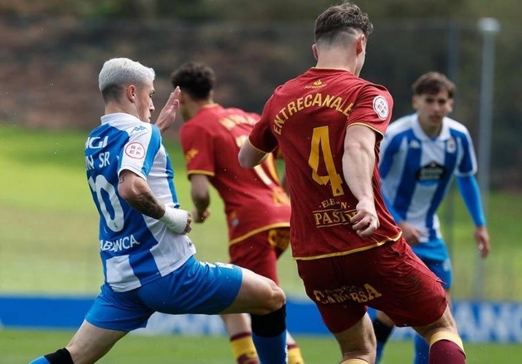
<path fill-rule="evenodd" d="M 379 171 L 396 220 L 425 231 L 421 242 L 428 242 L 442 239 L 436 212 L 453 177 L 474 175 L 477 160 L 461 123 L 446 117 L 439 136 L 430 138 L 412 114 L 390 123 L 381 143 Z"/>

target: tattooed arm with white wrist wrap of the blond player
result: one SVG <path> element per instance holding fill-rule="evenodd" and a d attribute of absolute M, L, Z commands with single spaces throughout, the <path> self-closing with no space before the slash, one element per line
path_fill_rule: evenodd
<path fill-rule="evenodd" d="M 118 194 L 134 210 L 160 220 L 174 233 L 187 234 L 191 231 L 191 216 L 188 211 L 171 208 L 160 202 L 147 181 L 128 169 L 120 172 Z"/>

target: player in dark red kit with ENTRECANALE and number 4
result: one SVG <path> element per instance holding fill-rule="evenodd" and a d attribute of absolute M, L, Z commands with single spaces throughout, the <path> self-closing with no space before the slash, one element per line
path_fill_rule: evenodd
<path fill-rule="evenodd" d="M 315 21 L 316 67 L 275 89 L 239 160 L 253 167 L 282 151 L 293 257 L 342 364 L 375 361 L 366 306 L 413 326 L 430 343 L 430 364 L 465 363 L 446 293 L 401 237 L 380 191 L 379 143 L 393 99 L 359 78 L 372 31 L 353 3 L 326 9 Z"/>

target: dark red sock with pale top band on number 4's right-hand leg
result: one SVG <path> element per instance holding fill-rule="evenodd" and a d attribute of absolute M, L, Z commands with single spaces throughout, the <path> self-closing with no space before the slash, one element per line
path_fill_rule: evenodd
<path fill-rule="evenodd" d="M 429 364 L 466 364 L 462 340 L 451 332 L 437 332 L 430 340 Z"/>

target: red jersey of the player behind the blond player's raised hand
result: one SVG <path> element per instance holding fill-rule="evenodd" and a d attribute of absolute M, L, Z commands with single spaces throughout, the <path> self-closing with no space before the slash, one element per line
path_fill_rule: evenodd
<path fill-rule="evenodd" d="M 290 225 L 289 198 L 272 156 L 254 169 L 244 169 L 238 161 L 239 149 L 258 120 L 258 114 L 213 104 L 180 129 L 187 174 L 208 175 L 225 203 L 230 244 Z"/>

